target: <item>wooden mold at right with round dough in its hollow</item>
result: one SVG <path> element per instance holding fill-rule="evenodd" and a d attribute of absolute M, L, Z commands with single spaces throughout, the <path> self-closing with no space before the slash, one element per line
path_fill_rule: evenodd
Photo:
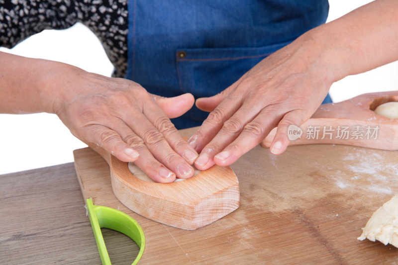
<path fill-rule="evenodd" d="M 398 150 L 398 119 L 377 115 L 381 104 L 398 101 L 398 91 L 368 93 L 321 105 L 310 119 L 288 130 L 289 145 L 339 144 Z M 262 142 L 269 148 L 276 128 Z"/>

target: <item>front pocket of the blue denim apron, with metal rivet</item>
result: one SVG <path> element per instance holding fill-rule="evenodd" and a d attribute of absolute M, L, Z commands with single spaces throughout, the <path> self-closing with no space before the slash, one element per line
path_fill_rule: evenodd
<path fill-rule="evenodd" d="M 176 51 L 178 82 L 182 92 L 195 98 L 228 88 L 253 66 L 290 42 L 255 48 L 205 48 Z M 194 106 L 190 119 L 203 121 L 208 113 Z"/>

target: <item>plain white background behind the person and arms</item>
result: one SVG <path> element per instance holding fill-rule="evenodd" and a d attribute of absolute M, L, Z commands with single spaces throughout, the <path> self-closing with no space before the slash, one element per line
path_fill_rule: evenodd
<path fill-rule="evenodd" d="M 329 0 L 328 21 L 370 2 L 370 0 Z M 22 56 L 65 62 L 86 71 L 110 76 L 112 65 L 96 36 L 85 26 L 76 24 L 62 31 L 45 30 L 0 51 Z M 375 91 L 398 89 L 398 63 L 364 74 L 347 77 L 333 84 L 334 102 Z M 85 145 L 71 135 L 56 115 L 0 114 L 0 174 L 73 162 L 72 151 Z"/>

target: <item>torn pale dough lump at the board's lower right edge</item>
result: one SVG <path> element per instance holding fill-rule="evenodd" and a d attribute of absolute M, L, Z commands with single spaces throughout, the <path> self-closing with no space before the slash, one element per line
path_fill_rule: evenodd
<path fill-rule="evenodd" d="M 373 213 L 358 240 L 379 240 L 398 248 L 398 194 Z"/>

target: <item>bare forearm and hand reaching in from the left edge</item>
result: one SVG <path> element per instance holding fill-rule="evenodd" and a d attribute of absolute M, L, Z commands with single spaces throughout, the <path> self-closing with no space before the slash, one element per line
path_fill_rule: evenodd
<path fill-rule="evenodd" d="M 132 81 L 3 52 L 0 62 L 0 113 L 56 113 L 76 137 L 134 161 L 156 182 L 194 175 L 198 153 L 169 119 L 192 107 L 192 94 L 164 98 Z"/>

